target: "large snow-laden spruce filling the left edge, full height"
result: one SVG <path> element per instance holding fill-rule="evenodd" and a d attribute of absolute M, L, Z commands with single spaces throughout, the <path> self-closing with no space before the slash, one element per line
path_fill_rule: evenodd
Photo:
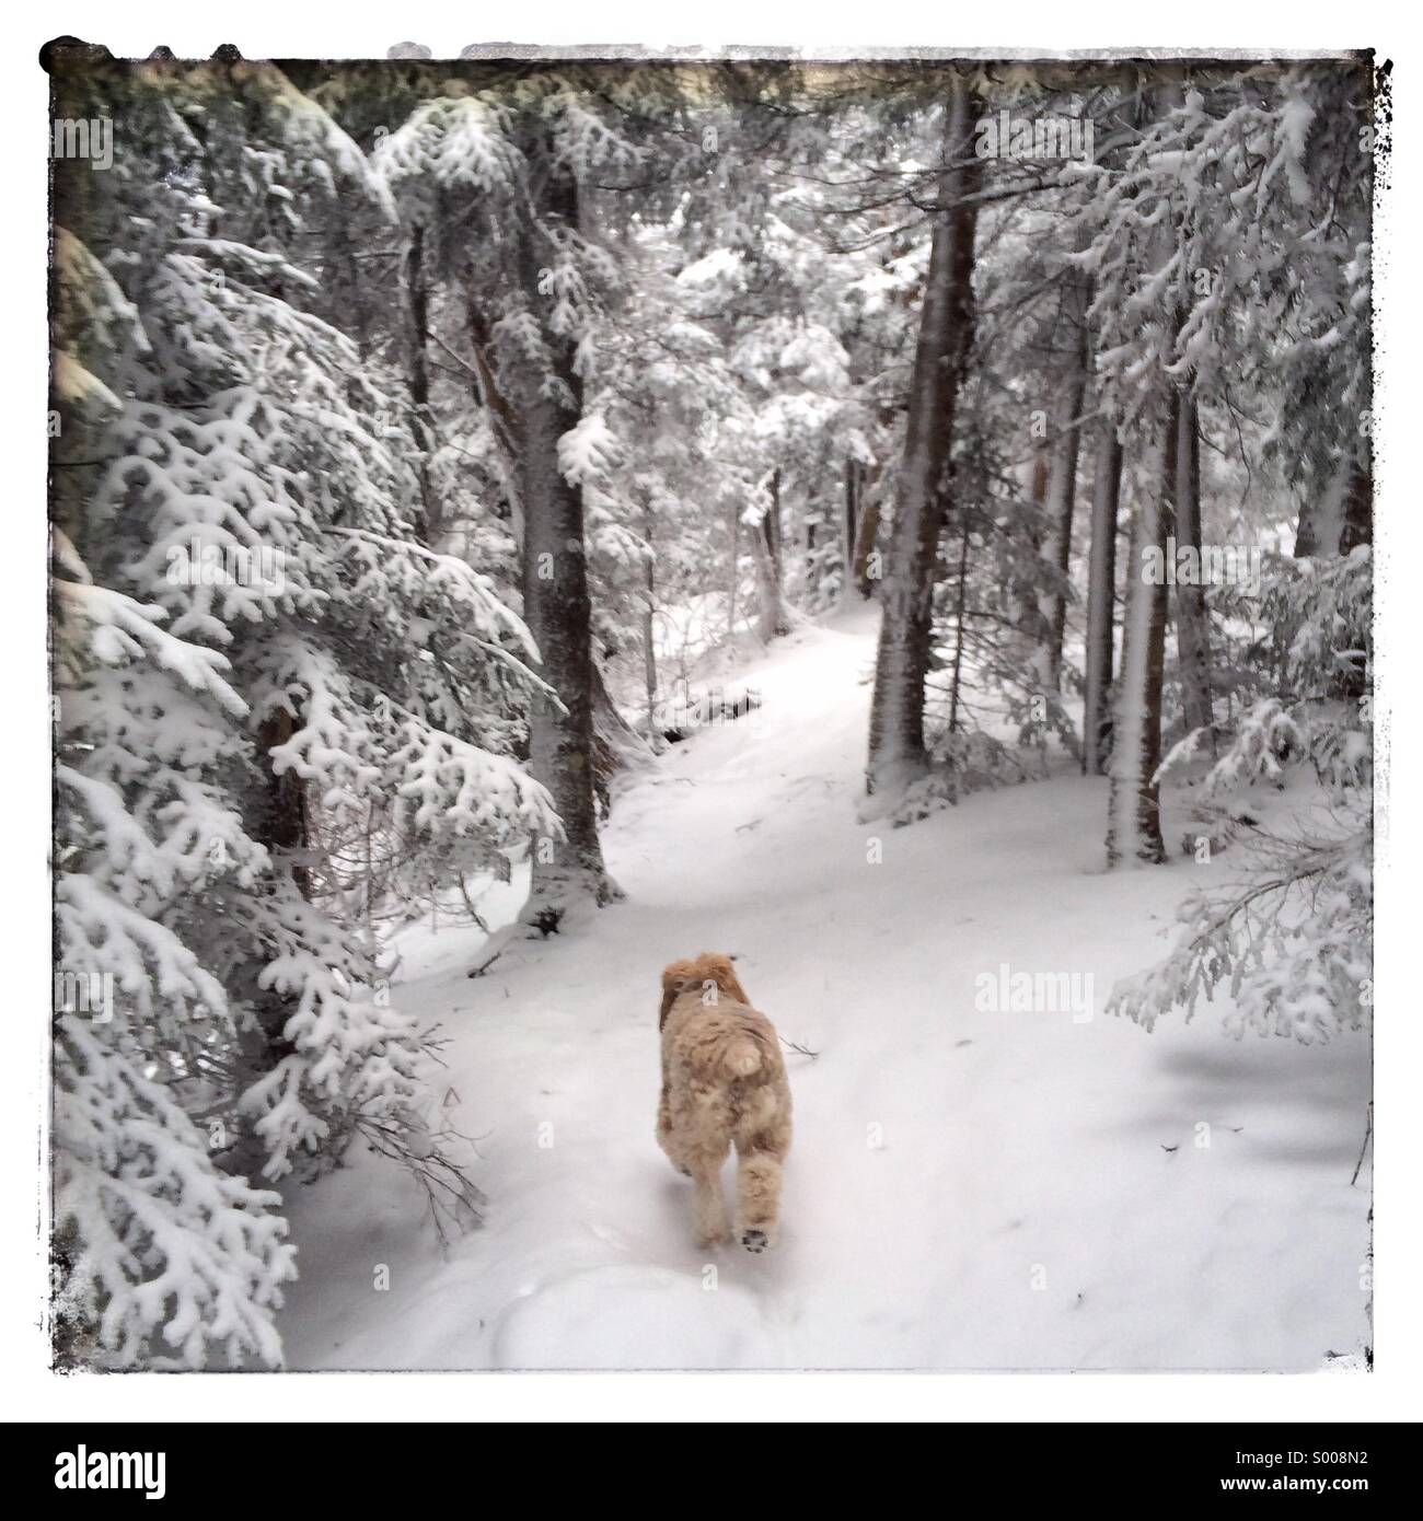
<path fill-rule="evenodd" d="M 365 1133 L 473 1205 L 327 847 L 449 881 L 557 838 L 511 759 L 537 649 L 417 541 L 402 402 L 321 310 L 304 262 L 390 210 L 355 144 L 268 68 L 87 87 L 128 148 L 56 233 L 59 1342 L 274 1364 L 294 1255 L 247 1177 Z"/>

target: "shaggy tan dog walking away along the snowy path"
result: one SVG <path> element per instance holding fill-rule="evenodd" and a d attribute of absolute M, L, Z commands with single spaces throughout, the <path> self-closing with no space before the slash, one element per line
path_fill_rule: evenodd
<path fill-rule="evenodd" d="M 781 1164 L 790 1150 L 790 1086 L 781 1043 L 750 1007 L 731 960 L 703 951 L 662 970 L 662 1098 L 657 1144 L 692 1180 L 697 1244 L 727 1237 L 721 1164 L 737 1147 L 732 1230 L 749 1252 L 776 1244 Z"/>

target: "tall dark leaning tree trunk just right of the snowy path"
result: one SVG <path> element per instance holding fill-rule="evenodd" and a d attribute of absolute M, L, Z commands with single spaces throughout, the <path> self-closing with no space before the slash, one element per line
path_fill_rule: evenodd
<path fill-rule="evenodd" d="M 982 178 L 980 161 L 973 152 L 973 116 L 968 81 L 956 75 L 910 382 L 904 468 L 881 592 L 869 719 L 866 791 L 889 802 L 928 771 L 924 680 L 930 663 L 939 534 L 947 508 L 944 476 L 973 333 L 977 207 L 966 196 L 977 190 Z"/>

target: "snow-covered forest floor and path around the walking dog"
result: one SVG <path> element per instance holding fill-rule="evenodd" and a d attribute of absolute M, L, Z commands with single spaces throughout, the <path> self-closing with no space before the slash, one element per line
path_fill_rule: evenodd
<path fill-rule="evenodd" d="M 487 1223 L 441 1252 L 419 1191 L 364 1153 L 292 1189 L 289 1366 L 1224 1370 L 1358 1351 L 1365 1040 L 1239 1043 L 1210 1007 L 1152 1034 L 1105 1016 L 1228 855 L 1106 875 L 1102 780 L 857 823 L 872 656 L 863 611 L 740 672 L 764 706 L 619 800 L 604 846 L 627 902 L 575 934 L 516 940 L 478 980 L 478 931 L 406 934 L 399 1002 L 452 1037 Z M 703 949 L 735 952 L 817 1053 L 788 1056 L 764 1256 L 694 1246 L 689 1183 L 653 1139 L 657 973 Z M 983 1008 L 1004 964 L 1091 973 L 1091 1018 Z"/>

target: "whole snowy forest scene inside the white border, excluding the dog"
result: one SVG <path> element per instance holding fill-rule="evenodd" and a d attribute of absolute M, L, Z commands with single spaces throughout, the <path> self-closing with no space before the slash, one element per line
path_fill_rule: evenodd
<path fill-rule="evenodd" d="M 58 1366 L 1368 1355 L 1371 55 L 46 67 Z"/>

